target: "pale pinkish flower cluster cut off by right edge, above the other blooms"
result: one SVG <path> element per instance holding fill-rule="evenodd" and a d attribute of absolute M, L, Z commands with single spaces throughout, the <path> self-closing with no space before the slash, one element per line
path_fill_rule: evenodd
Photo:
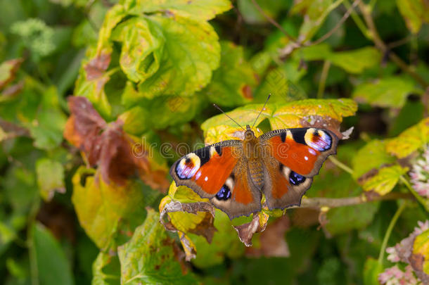
<path fill-rule="evenodd" d="M 426 146 L 421 158 L 416 160 L 409 175 L 416 192 L 429 198 L 429 145 Z"/>

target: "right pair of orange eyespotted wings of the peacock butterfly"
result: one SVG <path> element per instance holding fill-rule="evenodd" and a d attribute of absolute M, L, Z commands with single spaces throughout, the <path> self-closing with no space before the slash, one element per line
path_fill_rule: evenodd
<path fill-rule="evenodd" d="M 276 129 L 260 138 L 264 148 L 264 186 L 267 205 L 300 205 L 312 177 L 326 158 L 336 152 L 338 138 L 326 129 Z"/>

